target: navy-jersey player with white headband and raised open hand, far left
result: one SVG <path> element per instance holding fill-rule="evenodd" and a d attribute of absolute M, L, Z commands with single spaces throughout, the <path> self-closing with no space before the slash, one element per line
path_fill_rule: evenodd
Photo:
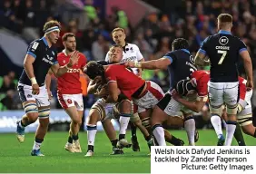
<path fill-rule="evenodd" d="M 35 132 L 35 140 L 32 156 L 44 156 L 40 146 L 48 129 L 50 102 L 45 86 L 45 77 L 51 69 L 56 77 L 66 73 L 79 56 L 75 52 L 69 63 L 60 67 L 57 62 L 57 53 L 53 44 L 58 41 L 60 24 L 57 21 L 49 21 L 44 24 L 44 37 L 30 43 L 25 54 L 24 71 L 18 82 L 18 92 L 23 102 L 25 115 L 21 121 L 17 121 L 17 139 L 25 140 L 25 127 L 34 123 L 39 118 L 39 125 Z"/>

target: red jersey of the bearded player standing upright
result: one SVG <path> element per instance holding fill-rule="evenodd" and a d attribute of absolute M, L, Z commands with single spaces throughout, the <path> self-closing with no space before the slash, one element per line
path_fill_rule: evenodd
<path fill-rule="evenodd" d="M 79 53 L 78 63 L 75 63 L 67 73 L 64 73 L 58 78 L 58 91 L 62 94 L 77 94 L 82 93 L 81 82 L 80 82 L 80 71 L 85 66 L 86 58 L 83 53 Z M 70 55 L 58 53 L 58 63 L 60 66 L 64 66 L 69 63 Z"/>

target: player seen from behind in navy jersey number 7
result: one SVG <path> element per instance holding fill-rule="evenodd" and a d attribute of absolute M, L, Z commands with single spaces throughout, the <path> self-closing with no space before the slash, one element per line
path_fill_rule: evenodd
<path fill-rule="evenodd" d="M 227 106 L 227 128 L 226 140 L 221 134 L 218 144 L 230 146 L 236 129 L 237 105 L 239 99 L 239 80 L 237 63 L 241 56 L 244 69 L 247 74 L 247 90 L 253 89 L 251 57 L 245 43 L 231 34 L 231 14 L 220 14 L 218 16 L 219 33 L 207 37 L 196 54 L 195 62 L 198 65 L 205 63 L 208 57 L 211 63 L 210 82 L 208 92 L 210 99 L 210 111 L 212 113 L 212 125 L 222 129 L 220 116 L 222 115 L 222 104 Z"/>

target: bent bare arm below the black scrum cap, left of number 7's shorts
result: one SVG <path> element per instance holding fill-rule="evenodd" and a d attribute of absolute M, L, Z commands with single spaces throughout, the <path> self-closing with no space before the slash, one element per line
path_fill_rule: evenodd
<path fill-rule="evenodd" d="M 189 101 L 186 101 L 185 99 L 182 99 L 182 97 L 178 93 L 176 93 L 176 94 L 172 93 L 172 97 L 175 101 L 182 103 L 182 105 L 184 105 L 188 109 L 195 111 L 195 112 L 202 111 L 202 107 L 204 106 L 204 104 L 206 102 L 204 97 L 198 97 L 196 102 L 189 102 Z"/>

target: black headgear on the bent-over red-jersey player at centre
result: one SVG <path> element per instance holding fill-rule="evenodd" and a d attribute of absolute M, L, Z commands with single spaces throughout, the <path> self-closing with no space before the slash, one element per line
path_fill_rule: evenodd
<path fill-rule="evenodd" d="M 84 68 L 84 73 L 88 75 L 88 77 L 94 80 L 97 76 L 104 76 L 104 67 L 100 63 L 96 63 L 95 61 L 90 61 L 86 64 Z"/>

